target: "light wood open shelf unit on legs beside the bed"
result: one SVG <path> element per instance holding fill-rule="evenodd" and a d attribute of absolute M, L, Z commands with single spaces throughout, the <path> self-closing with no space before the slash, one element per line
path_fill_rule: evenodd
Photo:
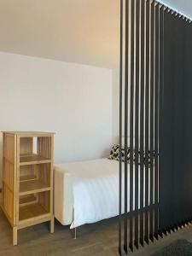
<path fill-rule="evenodd" d="M 54 133 L 3 131 L 3 212 L 17 232 L 53 215 Z"/>

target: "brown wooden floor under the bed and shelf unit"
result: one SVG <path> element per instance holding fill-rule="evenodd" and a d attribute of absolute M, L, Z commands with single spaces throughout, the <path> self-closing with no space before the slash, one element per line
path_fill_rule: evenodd
<path fill-rule="evenodd" d="M 192 241 L 192 227 L 166 236 L 154 244 L 132 253 L 133 256 L 150 256 L 176 239 Z M 19 245 L 11 244 L 11 229 L 0 210 L 0 255 L 1 256 L 114 256 L 118 251 L 118 219 L 112 218 L 97 224 L 84 225 L 78 230 L 78 239 L 73 240 L 68 227 L 56 222 L 55 234 L 49 234 L 48 224 L 38 224 L 19 231 Z"/>

